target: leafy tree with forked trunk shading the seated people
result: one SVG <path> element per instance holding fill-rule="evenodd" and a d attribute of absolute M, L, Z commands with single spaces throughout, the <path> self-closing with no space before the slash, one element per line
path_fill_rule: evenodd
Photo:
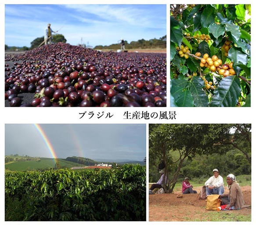
<path fill-rule="evenodd" d="M 168 172 L 172 172 L 168 185 L 172 192 L 185 159 L 225 154 L 233 144 L 245 146 L 243 151 L 250 154 L 251 141 L 242 144 L 245 137 L 251 138 L 250 133 L 250 125 L 246 124 L 153 124 L 149 126 L 149 163 L 157 166 L 163 160 L 168 179 Z"/>

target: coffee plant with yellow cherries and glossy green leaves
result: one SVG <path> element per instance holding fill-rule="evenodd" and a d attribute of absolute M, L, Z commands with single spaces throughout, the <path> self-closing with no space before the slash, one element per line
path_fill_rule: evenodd
<path fill-rule="evenodd" d="M 171 5 L 171 106 L 248 107 L 251 7 Z"/>

